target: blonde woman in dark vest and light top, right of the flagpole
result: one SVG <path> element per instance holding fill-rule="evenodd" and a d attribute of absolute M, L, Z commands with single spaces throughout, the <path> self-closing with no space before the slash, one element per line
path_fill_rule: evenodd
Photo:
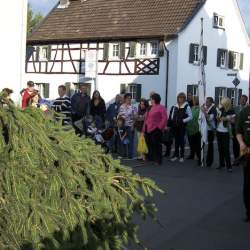
<path fill-rule="evenodd" d="M 227 167 L 228 172 L 232 172 L 230 158 L 230 130 L 231 123 L 234 122 L 235 112 L 232 109 L 231 100 L 227 97 L 221 100 L 221 107 L 218 111 L 217 142 L 219 150 L 220 165 L 217 169 Z"/>

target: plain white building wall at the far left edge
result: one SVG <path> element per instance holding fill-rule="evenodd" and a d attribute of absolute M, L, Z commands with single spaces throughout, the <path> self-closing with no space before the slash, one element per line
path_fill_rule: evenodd
<path fill-rule="evenodd" d="M 0 89 L 14 90 L 18 101 L 24 82 L 27 0 L 3 1 L 0 8 Z"/>

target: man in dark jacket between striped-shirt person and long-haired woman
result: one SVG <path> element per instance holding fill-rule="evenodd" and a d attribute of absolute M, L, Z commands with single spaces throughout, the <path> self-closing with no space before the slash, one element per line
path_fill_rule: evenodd
<path fill-rule="evenodd" d="M 72 121 L 76 122 L 84 118 L 90 113 L 90 97 L 87 94 L 87 86 L 81 84 L 79 93 L 76 93 L 71 98 Z"/>

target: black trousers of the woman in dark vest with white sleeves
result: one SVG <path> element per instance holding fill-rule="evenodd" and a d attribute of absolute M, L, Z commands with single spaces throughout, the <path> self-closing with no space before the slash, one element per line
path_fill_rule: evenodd
<path fill-rule="evenodd" d="M 186 133 L 186 128 L 184 126 L 173 129 L 174 141 L 175 141 L 174 157 L 180 156 L 181 158 L 184 158 L 185 133 Z"/>

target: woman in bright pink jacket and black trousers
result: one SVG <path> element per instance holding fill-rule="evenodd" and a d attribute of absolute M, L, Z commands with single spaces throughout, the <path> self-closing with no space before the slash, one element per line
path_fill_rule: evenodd
<path fill-rule="evenodd" d="M 145 116 L 143 132 L 148 146 L 148 160 L 154 161 L 158 165 L 162 163 L 162 133 L 167 125 L 166 108 L 160 104 L 159 94 L 151 96 L 149 111 Z"/>

